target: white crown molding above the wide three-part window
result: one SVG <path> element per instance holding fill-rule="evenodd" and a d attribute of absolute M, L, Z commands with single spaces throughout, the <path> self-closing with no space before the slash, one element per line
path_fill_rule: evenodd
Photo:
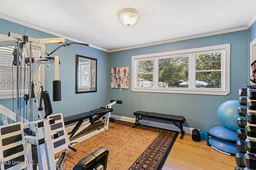
<path fill-rule="evenodd" d="M 190 36 L 190 37 L 171 39 L 171 40 L 168 40 L 168 41 L 160 41 L 160 42 L 156 42 L 156 43 L 149 43 L 149 44 L 144 44 L 144 45 L 136 45 L 136 46 L 126 47 L 126 48 L 122 48 L 122 49 L 110 50 L 109 52 L 112 53 L 112 52 L 115 52 L 115 51 L 123 51 L 123 50 L 128 50 L 128 49 L 147 47 L 147 46 L 151 46 L 151 45 L 159 45 L 159 44 L 164 44 L 164 43 L 172 43 L 172 42 L 175 42 L 175 41 L 182 41 L 182 40 L 187 40 L 187 39 L 206 37 L 206 36 L 210 36 L 210 35 L 217 35 L 217 34 L 222 34 L 222 33 L 241 31 L 241 30 L 244 30 L 244 29 L 248 29 L 248 27 L 246 26 L 246 27 L 228 29 L 228 30 L 224 30 L 224 31 L 217 31 L 217 32 L 213 32 L 213 33 L 205 33 L 205 34 L 200 34 L 200 35 L 193 35 L 193 36 Z"/>

